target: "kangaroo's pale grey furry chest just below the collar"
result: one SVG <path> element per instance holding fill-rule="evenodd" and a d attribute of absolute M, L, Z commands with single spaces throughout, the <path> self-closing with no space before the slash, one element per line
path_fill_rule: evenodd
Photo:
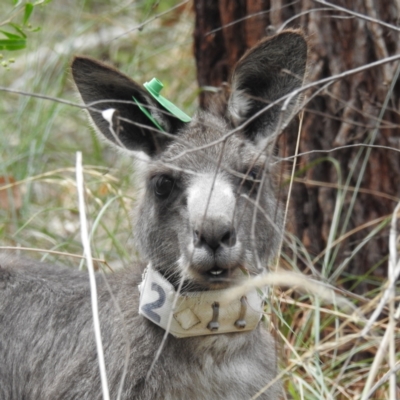
<path fill-rule="evenodd" d="M 275 352 L 267 350 L 270 337 L 262 328 L 251 333 L 171 339 L 151 374 L 155 380 L 164 375 L 159 397 L 153 393 L 149 399 L 250 399 L 276 375 Z M 273 385 L 259 398 L 277 398 L 278 389 Z"/>

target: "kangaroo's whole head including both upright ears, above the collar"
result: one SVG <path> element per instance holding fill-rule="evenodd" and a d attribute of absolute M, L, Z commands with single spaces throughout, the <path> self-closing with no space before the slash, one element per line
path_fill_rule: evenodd
<path fill-rule="evenodd" d="M 73 77 L 98 131 L 147 155 L 134 235 L 144 260 L 185 290 L 216 289 L 268 266 L 282 235 L 273 138 L 296 111 L 307 44 L 296 31 L 265 39 L 234 68 L 224 115 L 184 123 L 141 85 L 85 57 Z M 282 97 L 288 98 L 284 109 Z M 133 97 L 136 101 L 133 100 Z M 157 125 L 138 107 L 144 105 Z M 117 110 L 113 119 L 104 110 Z M 114 128 L 113 128 L 114 127 Z"/>

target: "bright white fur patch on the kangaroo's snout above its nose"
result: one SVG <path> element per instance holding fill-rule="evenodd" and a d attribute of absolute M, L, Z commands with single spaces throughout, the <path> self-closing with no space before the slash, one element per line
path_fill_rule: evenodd
<path fill-rule="evenodd" d="M 188 191 L 188 212 L 192 225 L 202 219 L 214 219 L 230 224 L 235 210 L 235 195 L 232 185 L 222 176 L 215 179 L 214 173 L 194 178 Z M 210 198 L 211 194 L 211 198 Z"/>

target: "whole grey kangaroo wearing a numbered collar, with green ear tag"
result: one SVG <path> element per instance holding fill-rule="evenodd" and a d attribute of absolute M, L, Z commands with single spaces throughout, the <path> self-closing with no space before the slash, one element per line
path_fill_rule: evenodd
<path fill-rule="evenodd" d="M 306 62 L 300 32 L 266 38 L 235 66 L 225 106 L 185 122 L 117 70 L 74 59 L 96 129 L 141 157 L 142 261 L 96 278 L 112 399 L 280 397 L 280 384 L 269 385 L 277 355 L 259 290 L 223 297 L 276 255 L 272 147 L 296 112 L 299 96 L 288 95 L 303 85 Z M 273 103 L 285 96 L 286 107 Z M 102 398 L 86 272 L 0 257 L 0 398 Z"/>

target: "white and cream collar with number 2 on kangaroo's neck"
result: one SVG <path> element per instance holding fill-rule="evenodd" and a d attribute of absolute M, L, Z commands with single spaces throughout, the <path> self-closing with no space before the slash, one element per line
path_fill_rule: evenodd
<path fill-rule="evenodd" d="M 143 275 L 139 314 L 177 338 L 250 331 L 263 316 L 263 295 L 257 289 L 228 301 L 226 290 L 178 294 L 151 265 Z"/>

